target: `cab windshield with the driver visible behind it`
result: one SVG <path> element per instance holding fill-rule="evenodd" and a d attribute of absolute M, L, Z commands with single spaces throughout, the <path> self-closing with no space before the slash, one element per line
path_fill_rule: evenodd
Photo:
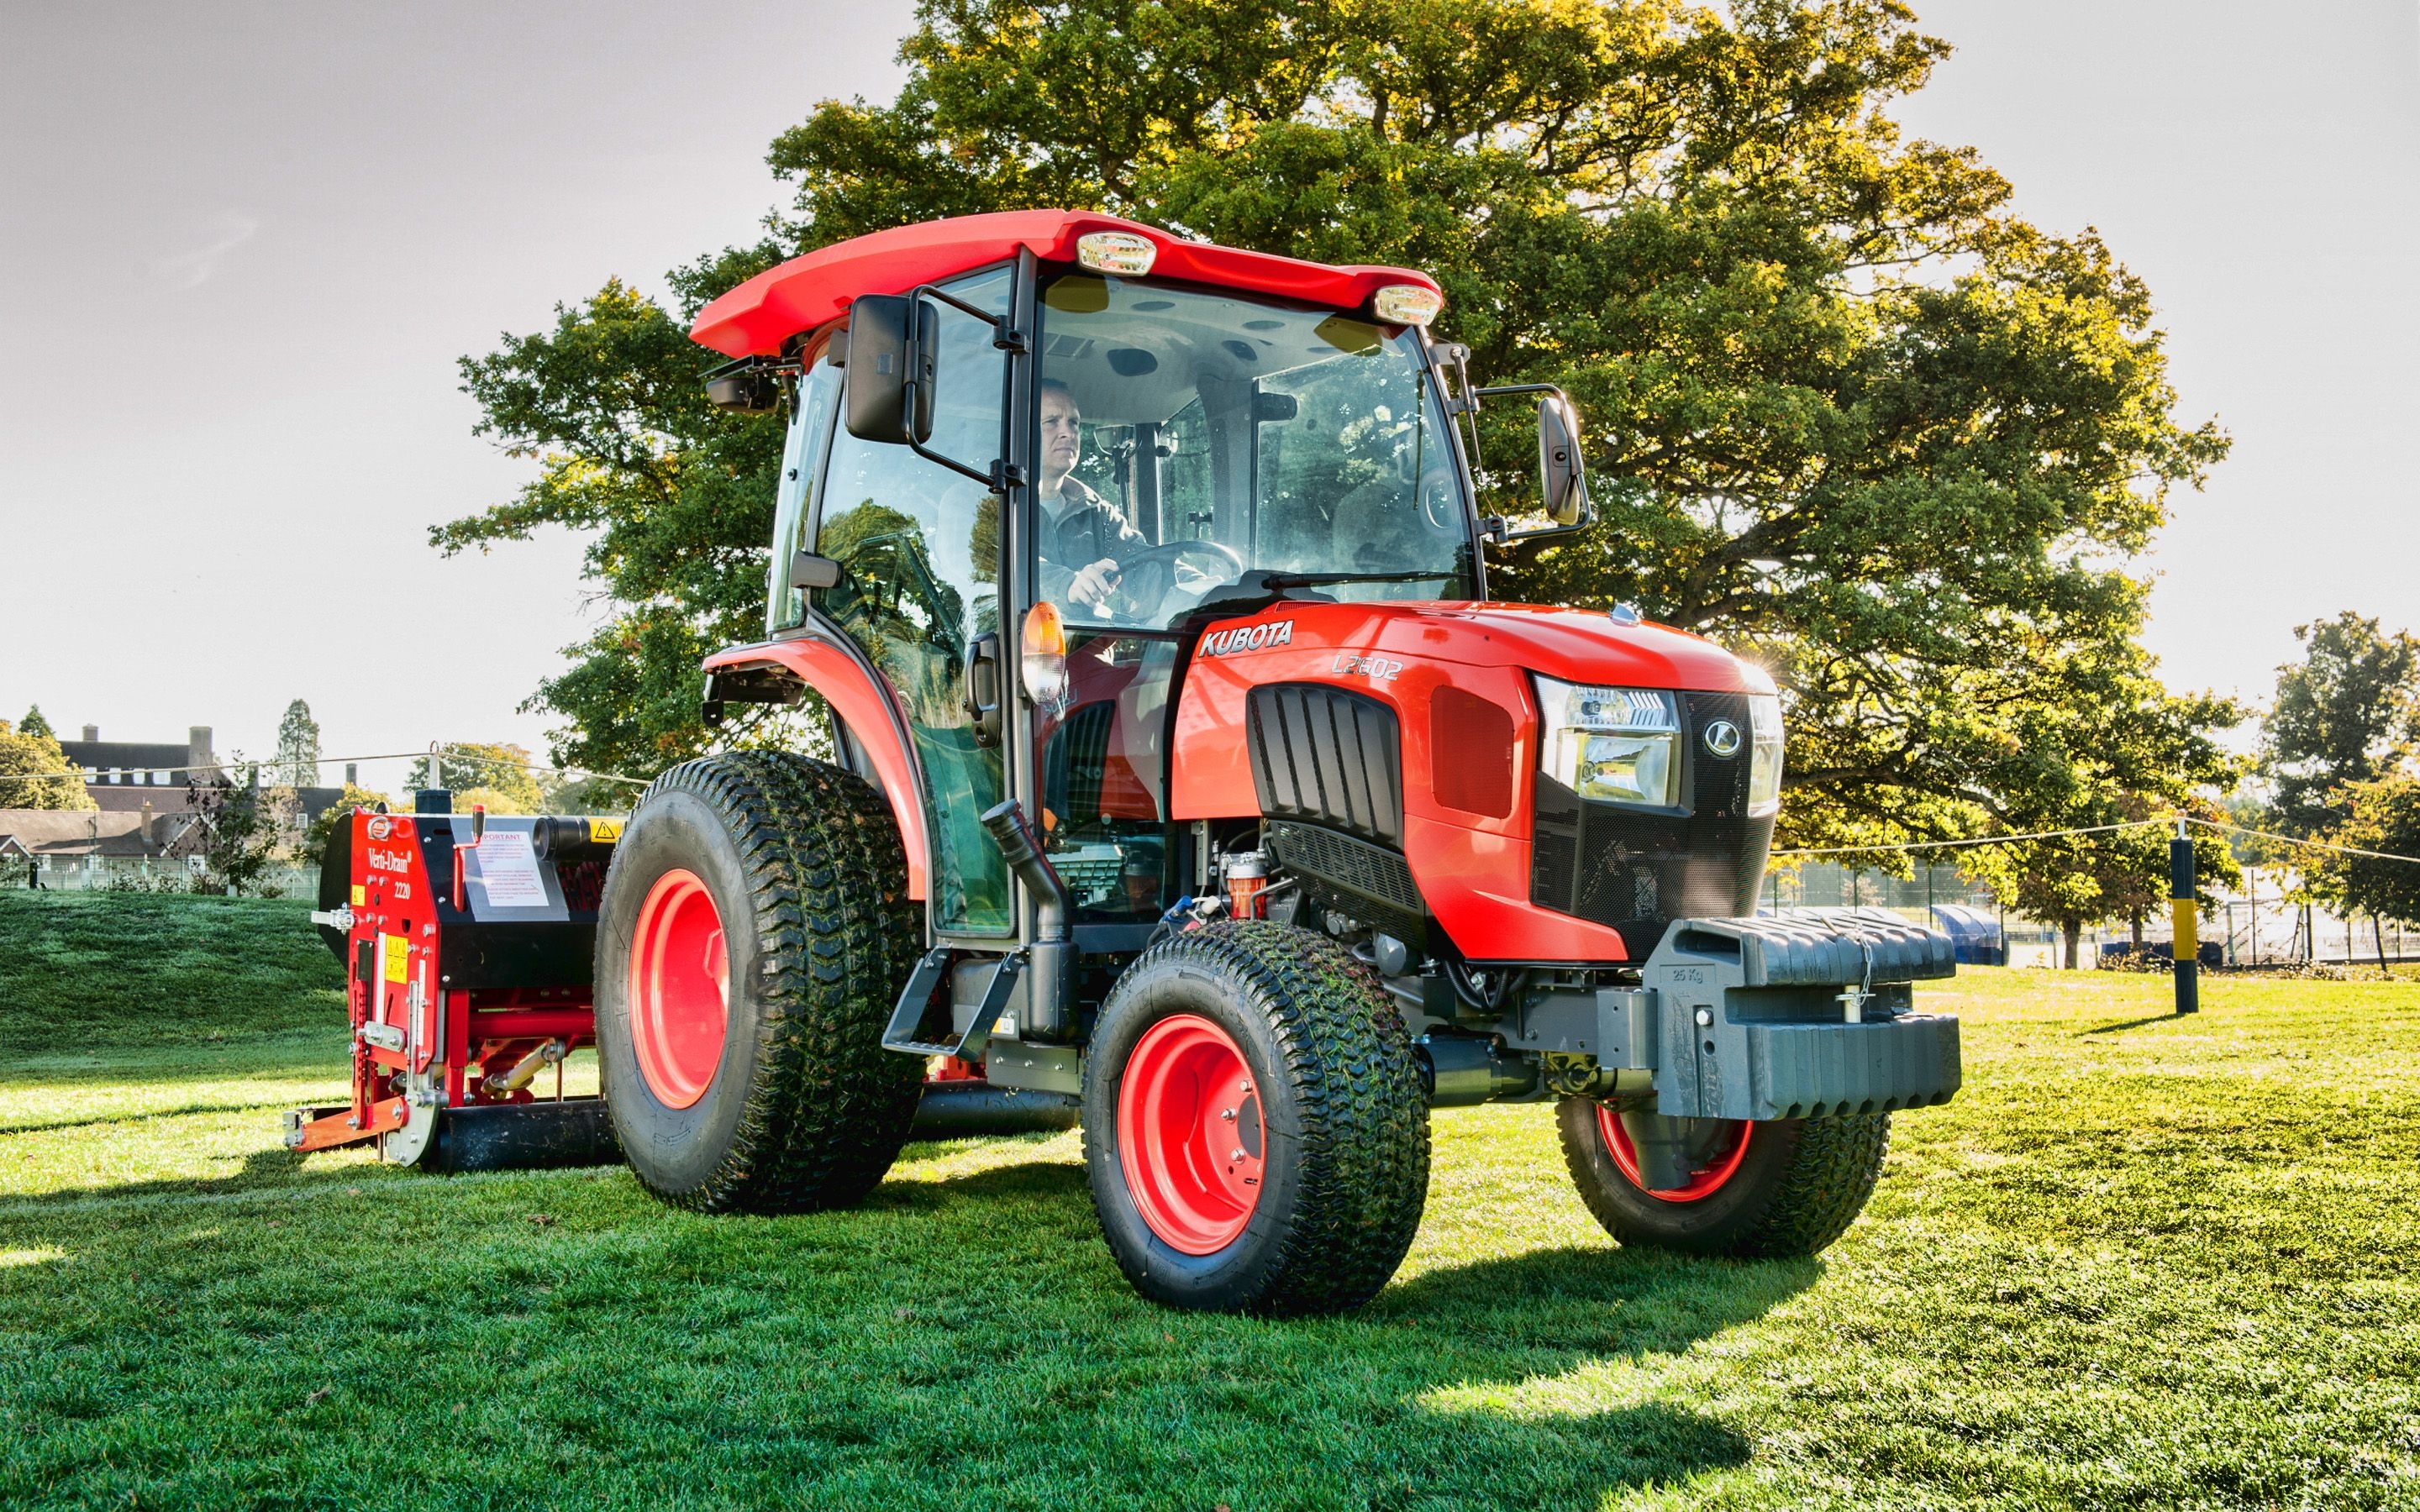
<path fill-rule="evenodd" d="M 1471 513 L 1418 334 L 1089 273 L 1043 290 L 1038 595 L 1169 627 L 1246 571 L 1474 598 Z M 1353 581 L 1360 578 L 1360 581 Z"/>

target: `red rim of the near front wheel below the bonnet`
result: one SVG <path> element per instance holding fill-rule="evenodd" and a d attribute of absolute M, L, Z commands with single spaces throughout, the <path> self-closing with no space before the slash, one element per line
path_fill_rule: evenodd
<path fill-rule="evenodd" d="M 1261 1205 L 1268 1130 L 1244 1050 L 1200 1014 L 1162 1018 L 1118 1081 L 1118 1166 L 1169 1248 L 1215 1256 Z"/>

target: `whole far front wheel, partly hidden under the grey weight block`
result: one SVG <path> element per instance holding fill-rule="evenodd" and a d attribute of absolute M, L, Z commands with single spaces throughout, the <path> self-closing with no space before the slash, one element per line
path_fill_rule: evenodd
<path fill-rule="evenodd" d="M 1817 1253 L 1863 1212 L 1890 1147 L 1888 1113 L 1738 1123 L 1566 1098 L 1556 1125 L 1607 1234 L 1696 1256 Z M 1643 1156 L 1643 1144 L 1663 1149 Z M 1663 1168 L 1655 1190 L 1643 1164 Z"/>

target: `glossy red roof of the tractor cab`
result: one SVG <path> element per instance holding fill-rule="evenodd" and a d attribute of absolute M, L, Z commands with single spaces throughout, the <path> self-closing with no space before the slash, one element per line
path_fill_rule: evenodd
<path fill-rule="evenodd" d="M 690 339 L 714 351 L 777 356 L 799 331 L 837 317 L 857 295 L 903 295 L 920 283 L 939 283 L 1016 256 L 1031 247 L 1043 261 L 1074 261 L 1077 237 L 1123 230 L 1159 247 L 1154 278 L 1186 278 L 1217 288 L 1280 295 L 1331 310 L 1358 310 L 1387 283 L 1437 281 L 1413 269 L 1307 264 L 1292 256 L 1186 242 L 1164 230 L 1089 210 L 1002 210 L 900 225 L 852 237 L 779 269 L 767 269 L 697 312 Z"/>

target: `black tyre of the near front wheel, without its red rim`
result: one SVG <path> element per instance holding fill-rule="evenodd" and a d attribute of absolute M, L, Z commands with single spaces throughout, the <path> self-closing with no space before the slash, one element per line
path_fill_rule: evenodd
<path fill-rule="evenodd" d="M 1108 1096 L 1108 1077 L 1123 1072 L 1123 1057 L 1108 1067 L 1096 1052 L 1084 1086 L 1084 1154 L 1111 1253 L 1135 1289 L 1179 1306 L 1263 1316 L 1362 1306 L 1404 1263 L 1428 1202 L 1428 1098 L 1394 999 L 1367 965 L 1324 934 L 1222 922 L 1137 956 L 1111 989 L 1101 1023 L 1137 1011 L 1135 999 L 1152 994 L 1169 973 L 1222 980 L 1237 1004 L 1268 1026 L 1263 1043 L 1275 1048 L 1270 1069 L 1287 1086 L 1297 1125 L 1292 1210 L 1239 1292 L 1174 1297 L 1154 1285 L 1154 1260 L 1140 1246 L 1118 1241 L 1118 1214 L 1104 1193 L 1104 1183 L 1123 1190 L 1125 1181 L 1113 1135 L 1116 1101 Z M 1101 1045 L 1104 1035 L 1096 1033 L 1094 1043 Z"/>

